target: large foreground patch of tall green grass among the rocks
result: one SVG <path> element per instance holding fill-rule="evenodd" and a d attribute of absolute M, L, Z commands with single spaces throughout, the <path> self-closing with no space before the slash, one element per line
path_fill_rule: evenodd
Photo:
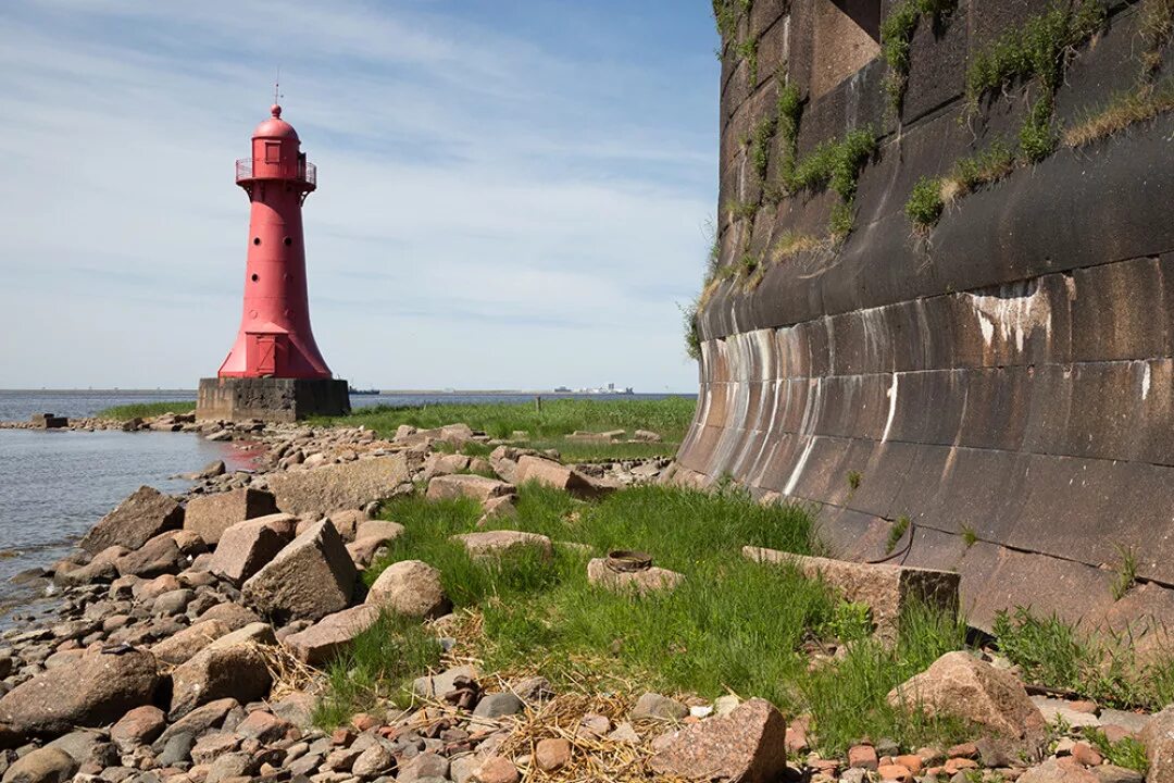
<path fill-rule="evenodd" d="M 763 696 L 788 714 L 810 710 L 821 747 L 835 751 L 862 734 L 876 734 L 876 727 L 908 748 L 962 736 L 950 722 L 925 721 L 884 702 L 895 686 L 962 646 L 964 626 L 956 619 L 911 615 L 903 621 L 898 649 L 885 650 L 865 637 L 871 625 L 865 607 L 838 601 L 794 568 L 741 555 L 743 545 L 818 551 L 805 507 L 763 507 L 733 485 L 711 494 L 634 487 L 588 504 L 533 484 L 521 487 L 517 507 L 515 519 L 490 527 L 548 535 L 555 541 L 552 561 L 520 553 L 474 562 L 448 539 L 475 529 L 478 505 L 416 497 L 385 507 L 384 515 L 406 533 L 365 579 L 404 559 L 439 568 L 457 610 L 473 610 L 480 620 L 477 635 L 463 639 L 460 649 L 481 659 L 486 671 L 538 673 L 556 688 Z M 645 598 L 614 594 L 587 582 L 591 555 L 559 541 L 586 544 L 600 555 L 641 549 L 686 581 Z M 811 644 L 819 640 L 839 640 L 850 649 L 843 663 L 810 674 Z M 343 677 L 344 670 L 382 666 L 382 654 L 365 650 L 332 667 L 329 709 L 319 710 L 323 725 L 344 720 L 348 704 L 363 708 L 371 694 L 386 694 L 406 679 L 399 670 L 390 683 Z M 377 662 L 365 663 L 364 655 Z M 421 663 L 419 655 L 409 657 Z"/>

